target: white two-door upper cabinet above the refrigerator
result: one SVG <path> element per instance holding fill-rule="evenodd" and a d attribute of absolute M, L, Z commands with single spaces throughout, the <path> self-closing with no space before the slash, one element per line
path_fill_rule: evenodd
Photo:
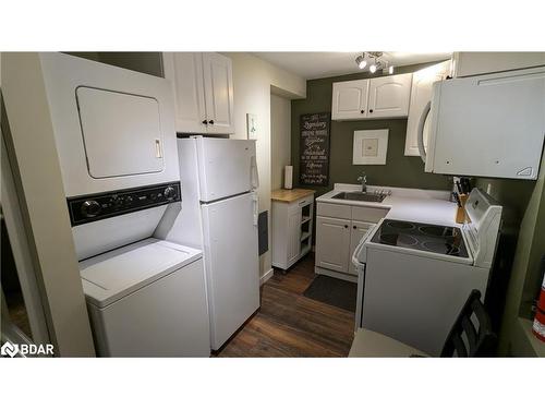
<path fill-rule="evenodd" d="M 234 133 L 231 59 L 214 52 L 166 52 L 164 64 L 173 86 L 177 132 Z"/>

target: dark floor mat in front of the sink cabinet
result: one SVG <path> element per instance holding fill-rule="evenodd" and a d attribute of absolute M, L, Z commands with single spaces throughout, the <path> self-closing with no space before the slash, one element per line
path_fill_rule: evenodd
<path fill-rule="evenodd" d="M 303 292 L 304 297 L 339 309 L 355 312 L 358 285 L 338 278 L 319 275 Z"/>

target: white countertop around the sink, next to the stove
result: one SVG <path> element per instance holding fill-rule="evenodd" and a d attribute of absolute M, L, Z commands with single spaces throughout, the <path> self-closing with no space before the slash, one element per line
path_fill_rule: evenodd
<path fill-rule="evenodd" d="M 388 188 L 367 185 L 367 191 L 389 190 L 391 195 L 382 203 L 332 199 L 340 192 L 361 191 L 360 184 L 335 183 L 334 190 L 316 199 L 316 202 L 349 206 L 378 207 L 389 209 L 387 218 L 426 222 L 443 226 L 459 226 L 456 222 L 457 205 L 450 202 L 449 191 Z"/>

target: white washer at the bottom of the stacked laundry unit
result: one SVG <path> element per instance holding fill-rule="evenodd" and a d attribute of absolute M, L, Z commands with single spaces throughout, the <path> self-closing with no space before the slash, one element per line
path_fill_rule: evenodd
<path fill-rule="evenodd" d="M 99 356 L 209 356 L 201 251 L 147 239 L 80 269 Z"/>

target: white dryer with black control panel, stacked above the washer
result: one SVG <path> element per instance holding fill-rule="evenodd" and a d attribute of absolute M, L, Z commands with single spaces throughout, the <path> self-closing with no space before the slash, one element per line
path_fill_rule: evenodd
<path fill-rule="evenodd" d="M 169 82 L 58 52 L 39 58 L 78 258 L 150 237 L 180 199 L 169 196 L 180 191 Z M 157 187 L 165 200 L 147 195 L 137 208 L 138 196 L 117 197 Z"/>

